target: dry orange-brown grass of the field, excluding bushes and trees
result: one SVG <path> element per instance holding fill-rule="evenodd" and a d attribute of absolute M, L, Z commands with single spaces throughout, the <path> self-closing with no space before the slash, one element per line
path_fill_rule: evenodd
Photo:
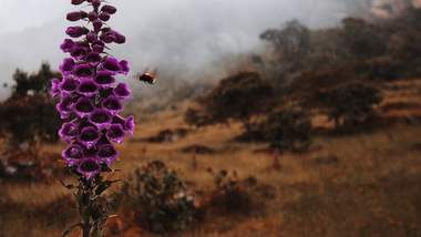
<path fill-rule="evenodd" d="M 233 142 L 242 132 L 239 124 L 189 128 L 183 122 L 188 102 L 142 114 L 135 137 L 120 147 L 115 167 L 125 178 L 142 164 L 161 159 L 201 189 L 212 188 L 209 168 L 236 171 L 274 193 L 250 215 L 215 215 L 174 236 L 421 236 L 421 80 L 390 83 L 383 92 L 383 118 L 400 122 L 351 135 L 316 135 L 309 151 L 280 154 L 279 168 L 267 144 Z M 326 122 L 318 117 L 315 124 Z M 181 127 L 188 128 L 185 137 L 145 141 Z M 192 145 L 213 152 L 182 152 Z M 43 146 L 45 153 L 61 148 Z M 0 186 L 0 237 L 57 237 L 74 220 L 71 196 L 57 179 Z M 110 236 L 154 236 L 125 216 L 109 226 L 117 233 Z"/>

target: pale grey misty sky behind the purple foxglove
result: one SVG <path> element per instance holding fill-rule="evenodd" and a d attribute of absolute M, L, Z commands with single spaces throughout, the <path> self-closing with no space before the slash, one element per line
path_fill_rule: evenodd
<path fill-rule="evenodd" d="M 127 43 L 113 52 L 138 71 L 146 65 L 199 71 L 227 53 L 261 48 L 258 34 L 299 19 L 310 27 L 336 24 L 353 0 L 110 0 L 119 12 L 110 24 Z M 0 83 L 17 68 L 57 68 L 64 56 L 64 16 L 70 0 L 0 0 Z M 0 97 L 6 96 L 0 91 Z"/>

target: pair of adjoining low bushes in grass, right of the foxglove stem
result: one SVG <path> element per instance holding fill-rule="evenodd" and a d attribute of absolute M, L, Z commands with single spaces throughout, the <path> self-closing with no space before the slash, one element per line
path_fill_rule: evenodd
<path fill-rule="evenodd" d="M 208 172 L 214 187 L 194 189 L 194 184 L 187 186 L 163 162 L 148 163 L 113 194 L 115 208 L 120 206 L 127 224 L 134 221 L 161 235 L 177 235 L 215 217 L 261 214 L 266 200 L 276 197 L 273 186 L 260 185 L 253 176 L 238 178 L 236 172 Z"/>

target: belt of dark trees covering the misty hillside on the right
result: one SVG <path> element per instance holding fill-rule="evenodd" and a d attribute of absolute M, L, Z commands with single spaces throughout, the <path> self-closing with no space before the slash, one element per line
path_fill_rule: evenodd
<path fill-rule="evenodd" d="M 333 128 L 376 122 L 383 82 L 421 75 L 421 10 L 337 28 L 310 30 L 299 21 L 260 34 L 270 51 L 253 55 L 254 71 L 223 79 L 185 113 L 194 126 L 239 121 L 243 138 L 281 150 L 311 143 L 311 114 Z"/>

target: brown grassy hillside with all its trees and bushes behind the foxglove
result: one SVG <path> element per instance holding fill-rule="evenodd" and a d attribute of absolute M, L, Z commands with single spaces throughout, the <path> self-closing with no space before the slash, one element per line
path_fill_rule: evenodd
<path fill-rule="evenodd" d="M 266 50 L 222 79 L 158 78 L 126 105 L 137 127 L 104 199 L 107 236 L 419 236 L 421 10 L 401 3 L 263 30 Z M 4 84 L 0 236 L 58 236 L 75 218 L 54 76 L 42 63 Z"/>

